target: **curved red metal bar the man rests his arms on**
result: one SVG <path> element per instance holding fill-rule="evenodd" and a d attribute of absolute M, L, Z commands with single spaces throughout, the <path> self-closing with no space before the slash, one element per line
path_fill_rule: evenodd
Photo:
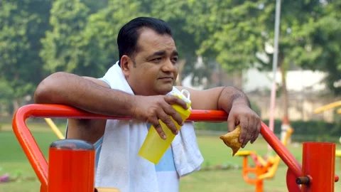
<path fill-rule="evenodd" d="M 31 166 L 43 187 L 48 186 L 48 163 L 41 153 L 36 140 L 33 138 L 30 130 L 26 126 L 25 120 L 28 117 L 62 117 L 62 118 L 82 118 L 82 119 L 131 119 L 130 117 L 111 117 L 100 114 L 92 114 L 82 110 L 77 110 L 64 105 L 26 105 L 21 107 L 13 117 L 13 132 L 16 134 L 18 142 L 28 157 Z M 227 120 L 227 113 L 214 110 L 192 110 L 189 121 L 201 122 L 224 122 Z M 261 123 L 261 134 L 266 142 L 276 151 L 278 156 L 283 159 L 289 169 L 295 176 L 301 176 L 302 169 L 298 161 L 279 141 L 276 135 L 270 129 Z M 335 181 L 337 178 L 335 178 Z"/>

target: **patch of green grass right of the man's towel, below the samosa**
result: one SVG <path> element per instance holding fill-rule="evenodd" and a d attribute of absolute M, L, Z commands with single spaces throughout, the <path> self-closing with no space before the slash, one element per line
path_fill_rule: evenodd
<path fill-rule="evenodd" d="M 242 166 L 242 157 L 231 156 L 230 149 L 227 149 L 217 137 L 198 137 L 202 155 L 205 158 L 203 167 L 217 164 L 236 164 Z M 259 139 L 254 144 L 246 146 L 242 150 L 257 151 L 259 154 L 266 154 L 266 142 Z M 298 157 L 301 162 L 301 145 L 293 147 L 290 151 Z M 250 159 L 251 161 L 251 159 Z M 276 177 L 264 181 L 265 191 L 288 191 L 286 189 L 286 170 L 283 162 L 278 167 Z M 254 186 L 244 182 L 241 169 L 220 170 L 220 171 L 199 171 L 181 180 L 181 191 L 255 191 Z"/>

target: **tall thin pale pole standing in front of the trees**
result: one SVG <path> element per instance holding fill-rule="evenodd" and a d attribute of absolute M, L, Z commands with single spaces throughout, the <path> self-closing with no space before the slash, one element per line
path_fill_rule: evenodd
<path fill-rule="evenodd" d="M 281 0 L 276 0 L 276 17 L 275 17 L 275 39 L 274 39 L 274 57 L 272 60 L 272 73 L 273 82 L 271 87 L 271 101 L 270 101 L 270 118 L 269 128 L 271 132 L 274 132 L 274 113 L 275 113 L 275 102 L 276 102 L 276 72 L 278 62 L 278 38 L 279 38 L 279 23 L 281 16 Z M 268 151 L 271 151 L 271 146 L 268 145 Z"/>

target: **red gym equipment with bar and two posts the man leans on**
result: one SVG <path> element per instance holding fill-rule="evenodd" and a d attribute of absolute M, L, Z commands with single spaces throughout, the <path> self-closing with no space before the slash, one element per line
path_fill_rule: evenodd
<path fill-rule="evenodd" d="M 54 142 L 49 149 L 48 163 L 26 126 L 25 120 L 29 117 L 131 119 L 130 117 L 92 114 L 64 105 L 26 105 L 16 111 L 13 117 L 13 132 L 40 180 L 40 192 L 59 192 L 65 189 L 67 192 L 99 191 L 98 188 L 94 188 L 94 149 L 93 146 L 80 140 L 64 139 L 63 142 Z M 191 110 L 188 120 L 225 122 L 227 114 L 215 110 Z M 334 191 L 334 182 L 339 180 L 339 177 L 335 176 L 334 143 L 303 143 L 301 166 L 264 123 L 261 123 L 261 134 L 288 166 L 286 174 L 288 191 Z M 319 153 L 314 151 L 319 151 Z M 112 191 L 117 191 L 117 189 L 112 189 Z"/>

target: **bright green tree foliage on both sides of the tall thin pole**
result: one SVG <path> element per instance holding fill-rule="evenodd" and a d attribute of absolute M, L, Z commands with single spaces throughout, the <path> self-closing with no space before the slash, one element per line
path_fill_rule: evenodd
<path fill-rule="evenodd" d="M 272 68 L 275 2 L 192 1 L 188 31 L 200 43 L 197 53 L 214 56 L 226 71 Z M 278 64 L 290 63 L 328 72 L 326 82 L 336 94 L 340 76 L 340 2 L 282 1 Z M 261 56 L 262 55 L 262 56 Z"/>

